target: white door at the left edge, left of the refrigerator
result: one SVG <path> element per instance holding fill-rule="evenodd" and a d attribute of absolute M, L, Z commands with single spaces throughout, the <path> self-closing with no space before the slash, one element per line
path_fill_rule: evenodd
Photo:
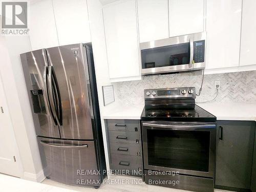
<path fill-rule="evenodd" d="M 0 76 L 0 173 L 20 177 L 17 143 Z"/>

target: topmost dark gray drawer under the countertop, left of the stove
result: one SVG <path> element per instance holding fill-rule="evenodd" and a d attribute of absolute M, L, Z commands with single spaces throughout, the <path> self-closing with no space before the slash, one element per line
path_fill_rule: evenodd
<path fill-rule="evenodd" d="M 108 130 L 139 132 L 139 120 L 109 119 Z"/>

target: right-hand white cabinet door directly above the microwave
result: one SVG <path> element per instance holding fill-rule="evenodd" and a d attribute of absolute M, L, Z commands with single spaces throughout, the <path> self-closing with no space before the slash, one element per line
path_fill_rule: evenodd
<path fill-rule="evenodd" d="M 203 30 L 204 0 L 169 0 L 170 37 Z"/>

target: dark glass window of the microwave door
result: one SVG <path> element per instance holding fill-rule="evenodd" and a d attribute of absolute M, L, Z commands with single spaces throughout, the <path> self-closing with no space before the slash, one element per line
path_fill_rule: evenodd
<path fill-rule="evenodd" d="M 141 50 L 142 69 L 189 64 L 189 42 Z"/>

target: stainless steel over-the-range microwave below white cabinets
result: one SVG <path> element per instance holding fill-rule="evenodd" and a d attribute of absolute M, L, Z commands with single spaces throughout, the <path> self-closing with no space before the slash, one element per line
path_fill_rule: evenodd
<path fill-rule="evenodd" d="M 205 68 L 206 33 L 140 44 L 141 74 L 176 73 Z"/>

